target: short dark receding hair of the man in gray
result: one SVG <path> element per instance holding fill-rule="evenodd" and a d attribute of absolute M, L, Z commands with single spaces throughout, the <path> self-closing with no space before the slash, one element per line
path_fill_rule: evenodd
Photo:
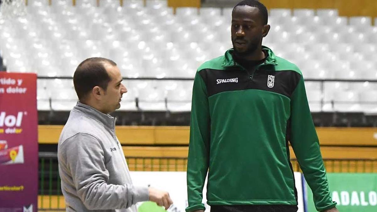
<path fill-rule="evenodd" d="M 104 64 L 116 66 L 112 60 L 102 57 L 87 58 L 77 66 L 73 76 L 73 84 L 79 100 L 83 100 L 95 86 L 100 86 L 105 91 L 111 81 Z"/>

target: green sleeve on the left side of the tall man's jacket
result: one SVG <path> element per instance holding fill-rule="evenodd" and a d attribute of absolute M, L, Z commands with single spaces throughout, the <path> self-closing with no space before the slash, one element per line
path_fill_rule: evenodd
<path fill-rule="evenodd" d="M 187 212 L 204 210 L 202 192 L 209 163 L 210 117 L 207 88 L 199 72 L 195 75 L 187 161 Z"/>

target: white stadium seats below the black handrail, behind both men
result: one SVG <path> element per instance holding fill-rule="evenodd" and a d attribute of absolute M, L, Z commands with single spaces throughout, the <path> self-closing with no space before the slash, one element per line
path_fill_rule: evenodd
<path fill-rule="evenodd" d="M 125 111 L 190 111 L 192 81 L 128 80 L 121 110 Z M 377 112 L 377 83 L 306 82 L 312 112 L 365 111 Z M 138 104 L 136 105 L 136 98 Z M 38 110 L 72 109 L 77 101 L 72 80 L 38 80 Z"/>

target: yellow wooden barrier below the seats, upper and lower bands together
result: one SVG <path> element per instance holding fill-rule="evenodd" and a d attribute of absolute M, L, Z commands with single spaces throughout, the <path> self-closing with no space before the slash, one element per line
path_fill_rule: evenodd
<path fill-rule="evenodd" d="M 39 143 L 57 144 L 62 129 L 38 126 Z M 377 128 L 316 129 L 323 158 L 377 159 Z M 187 157 L 188 126 L 117 126 L 115 131 L 127 157 Z"/>

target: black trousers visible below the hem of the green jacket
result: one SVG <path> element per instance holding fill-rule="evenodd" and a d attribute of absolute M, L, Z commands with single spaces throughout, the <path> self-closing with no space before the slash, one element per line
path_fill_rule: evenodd
<path fill-rule="evenodd" d="M 211 212 L 297 212 L 292 205 L 211 205 Z"/>

